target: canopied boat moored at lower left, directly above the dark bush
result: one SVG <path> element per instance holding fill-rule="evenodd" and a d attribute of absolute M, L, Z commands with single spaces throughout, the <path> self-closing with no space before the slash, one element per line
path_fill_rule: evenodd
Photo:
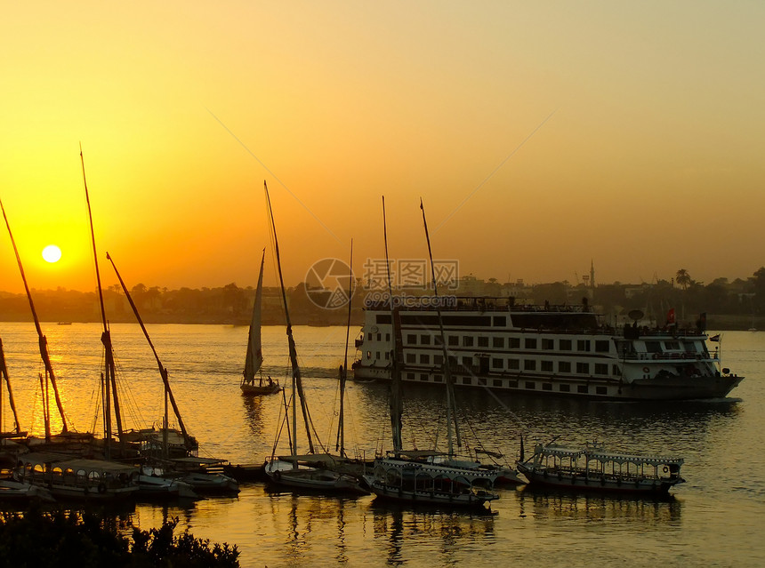
<path fill-rule="evenodd" d="M 138 475 L 131 465 L 47 452 L 24 454 L 13 469 L 14 481 L 43 487 L 56 499 L 132 498 L 139 489 Z"/>

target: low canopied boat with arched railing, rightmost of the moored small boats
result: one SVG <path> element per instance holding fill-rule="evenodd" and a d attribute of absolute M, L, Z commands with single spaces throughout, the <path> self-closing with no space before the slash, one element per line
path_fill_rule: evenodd
<path fill-rule="evenodd" d="M 608 452 L 600 444 L 567 447 L 537 444 L 519 471 L 531 487 L 543 486 L 576 492 L 665 494 L 680 476 L 682 458 Z"/>

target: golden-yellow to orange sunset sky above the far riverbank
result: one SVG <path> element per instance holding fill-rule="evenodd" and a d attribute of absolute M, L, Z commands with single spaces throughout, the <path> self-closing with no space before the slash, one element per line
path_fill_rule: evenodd
<path fill-rule="evenodd" d="M 30 2 L 0 199 L 33 289 L 286 284 L 389 254 L 527 284 L 765 265 L 760 2 Z M 0 291 L 22 292 L 7 232 Z M 41 252 L 57 244 L 62 257 Z"/>

